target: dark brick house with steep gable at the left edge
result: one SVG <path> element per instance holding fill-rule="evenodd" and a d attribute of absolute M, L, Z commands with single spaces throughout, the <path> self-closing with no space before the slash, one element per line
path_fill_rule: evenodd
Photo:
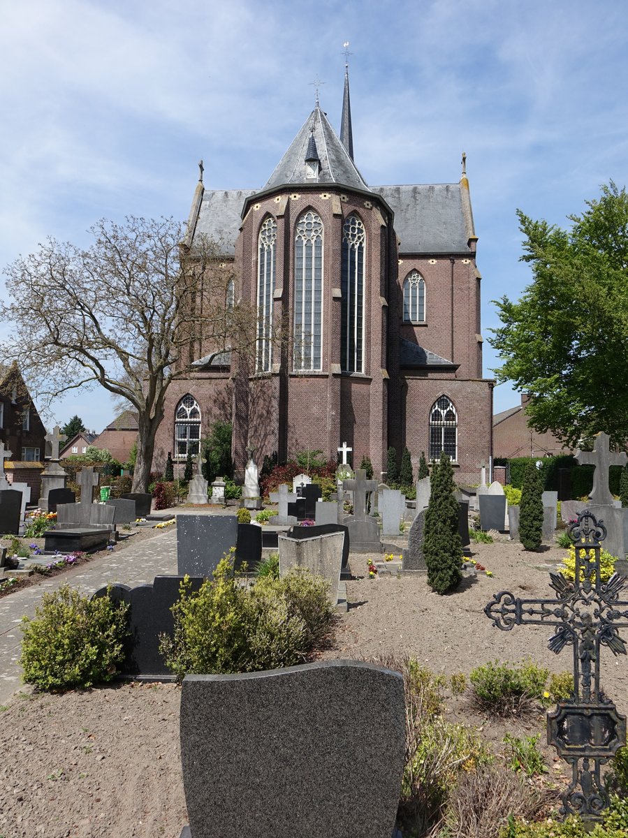
<path fill-rule="evenodd" d="M 44 468 L 46 429 L 29 395 L 18 365 L 0 370 L 0 441 L 11 457 L 4 468 L 8 483 L 26 483 L 36 503 Z"/>

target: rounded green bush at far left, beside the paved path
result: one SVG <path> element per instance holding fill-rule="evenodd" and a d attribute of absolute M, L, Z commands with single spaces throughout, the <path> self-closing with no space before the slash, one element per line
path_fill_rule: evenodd
<path fill-rule="evenodd" d="M 126 603 L 90 599 L 69 585 L 44 593 L 22 618 L 23 680 L 40 690 L 84 689 L 111 680 L 124 660 Z"/>

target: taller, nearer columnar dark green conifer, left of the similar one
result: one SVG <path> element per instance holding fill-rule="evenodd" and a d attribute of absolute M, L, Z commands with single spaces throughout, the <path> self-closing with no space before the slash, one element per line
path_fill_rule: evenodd
<path fill-rule="evenodd" d="M 458 501 L 454 496 L 454 469 L 446 453 L 432 467 L 431 494 L 425 513 L 423 556 L 428 585 L 437 593 L 458 587 L 462 578 L 462 542 L 458 531 Z"/>

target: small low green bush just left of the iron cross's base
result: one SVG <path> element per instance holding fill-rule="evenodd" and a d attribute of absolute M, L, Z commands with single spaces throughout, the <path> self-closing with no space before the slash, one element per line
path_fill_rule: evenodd
<path fill-rule="evenodd" d="M 506 716 L 530 699 L 542 699 L 549 672 L 532 660 L 520 665 L 490 661 L 471 671 L 475 703 L 483 710 Z"/>

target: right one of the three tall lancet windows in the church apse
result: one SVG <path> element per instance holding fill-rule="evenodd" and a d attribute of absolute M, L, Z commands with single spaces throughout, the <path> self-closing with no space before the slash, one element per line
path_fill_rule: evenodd
<path fill-rule="evenodd" d="M 350 215 L 342 228 L 340 369 L 364 372 L 364 225 Z"/>

